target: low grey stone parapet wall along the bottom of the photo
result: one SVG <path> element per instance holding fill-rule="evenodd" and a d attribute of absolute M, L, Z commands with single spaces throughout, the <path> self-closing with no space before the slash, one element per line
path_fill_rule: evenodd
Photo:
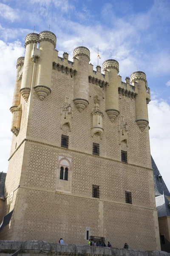
<path fill-rule="evenodd" d="M 10 256 L 18 252 L 18 256 L 170 256 L 164 251 L 131 250 L 123 248 L 94 247 L 79 244 L 54 244 L 46 241 L 9 241 L 0 240 L 0 256 Z"/>

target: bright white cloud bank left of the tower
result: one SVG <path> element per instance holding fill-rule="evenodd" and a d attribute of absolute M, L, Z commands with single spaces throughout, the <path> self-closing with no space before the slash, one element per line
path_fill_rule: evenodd
<path fill-rule="evenodd" d="M 8 169 L 8 158 L 10 154 L 12 133 L 12 114 L 9 108 L 12 104 L 14 84 L 16 77 L 17 58 L 23 56 L 24 48 L 19 41 L 6 44 L 0 41 L 0 145 L 3 154 L 0 154 L 1 171 Z M 3 67 L 3 68 L 2 68 Z"/>

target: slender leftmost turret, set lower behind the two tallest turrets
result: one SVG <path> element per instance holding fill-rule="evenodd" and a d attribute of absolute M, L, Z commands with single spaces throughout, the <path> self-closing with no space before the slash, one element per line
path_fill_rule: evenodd
<path fill-rule="evenodd" d="M 14 110 L 20 105 L 20 89 L 21 89 L 21 79 L 20 79 L 20 70 L 24 64 L 24 57 L 20 57 L 17 59 L 17 76 L 15 81 L 15 88 L 14 88 L 14 96 L 12 100 L 12 106 L 10 111 L 13 113 Z"/>

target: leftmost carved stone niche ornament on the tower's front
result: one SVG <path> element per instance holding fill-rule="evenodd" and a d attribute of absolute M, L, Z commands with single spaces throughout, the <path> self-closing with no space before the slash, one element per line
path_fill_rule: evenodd
<path fill-rule="evenodd" d="M 60 108 L 61 115 L 61 124 L 60 129 L 62 129 L 63 125 L 68 125 L 69 131 L 71 131 L 71 121 L 73 118 L 73 110 L 71 104 L 69 103 L 69 98 L 65 97 L 65 103 Z"/>

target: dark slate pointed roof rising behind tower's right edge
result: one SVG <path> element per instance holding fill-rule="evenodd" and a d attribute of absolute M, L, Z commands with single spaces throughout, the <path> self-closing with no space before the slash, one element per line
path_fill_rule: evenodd
<path fill-rule="evenodd" d="M 156 163 L 154 162 L 152 156 L 151 156 L 151 160 L 152 160 L 152 168 L 153 168 L 153 181 L 154 181 L 154 188 L 155 188 L 155 196 L 164 194 L 165 196 L 170 197 L 170 192 L 167 189 L 167 186 L 164 183 L 163 178 L 161 177 L 162 182 L 159 182 L 159 180 L 158 180 L 158 175 L 160 175 L 160 172 L 159 172 L 159 169 L 156 166 Z"/>

